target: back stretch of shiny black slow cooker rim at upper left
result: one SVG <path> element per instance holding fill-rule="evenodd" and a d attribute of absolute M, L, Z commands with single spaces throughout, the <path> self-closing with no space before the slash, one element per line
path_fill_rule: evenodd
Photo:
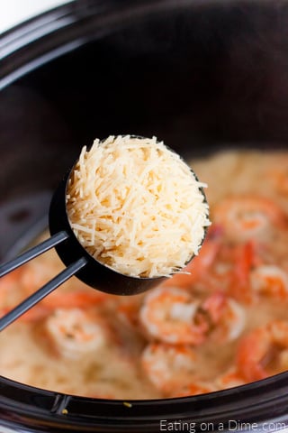
<path fill-rule="evenodd" d="M 235 5 L 241 0 L 235 0 Z M 268 5 L 271 0 L 262 0 Z M 284 3 L 285 0 L 281 0 Z M 71 0 L 0 33 L 0 90 L 31 70 L 75 50 L 94 38 L 116 31 L 118 25 L 144 14 L 161 14 L 193 5 L 205 8 L 220 0 Z M 258 5 L 258 0 L 245 0 Z M 226 5 L 223 5 L 224 9 Z M 94 16 L 94 20 L 91 17 Z M 110 27 L 107 25 L 110 23 Z M 109 30 L 108 30 L 109 28 Z M 57 36 L 57 37 L 56 37 Z"/>

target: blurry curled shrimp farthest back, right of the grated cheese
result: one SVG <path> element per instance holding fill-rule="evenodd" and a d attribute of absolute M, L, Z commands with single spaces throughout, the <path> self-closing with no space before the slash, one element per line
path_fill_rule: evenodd
<path fill-rule="evenodd" d="M 211 221 L 232 241 L 269 235 L 273 226 L 287 226 L 284 210 L 275 201 L 253 195 L 230 196 L 211 209 Z"/>

